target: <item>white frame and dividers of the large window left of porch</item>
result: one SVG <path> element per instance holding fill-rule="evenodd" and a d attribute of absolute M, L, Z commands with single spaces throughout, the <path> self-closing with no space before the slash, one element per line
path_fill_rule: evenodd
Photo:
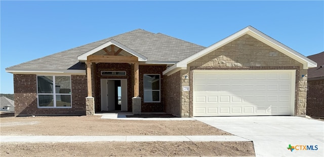
<path fill-rule="evenodd" d="M 70 77 L 70 89 L 71 89 L 71 92 L 70 93 L 56 93 L 56 90 L 53 89 L 53 93 L 38 93 L 38 76 L 52 76 L 53 78 L 53 86 L 56 85 L 55 83 L 55 77 L 56 76 L 68 76 Z M 55 87 L 54 87 L 55 88 Z M 72 82 L 71 82 L 71 75 L 36 75 L 36 89 L 37 89 L 37 108 L 72 108 Z M 39 95 L 53 95 L 53 101 L 54 101 L 54 104 L 53 106 L 39 106 L 39 101 L 38 101 L 38 96 Z M 71 106 L 59 106 L 57 107 L 56 106 L 56 95 L 70 95 L 70 99 L 71 99 Z"/>

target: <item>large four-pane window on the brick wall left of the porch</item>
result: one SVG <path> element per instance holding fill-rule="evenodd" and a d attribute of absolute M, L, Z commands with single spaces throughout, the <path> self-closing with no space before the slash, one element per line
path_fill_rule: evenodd
<path fill-rule="evenodd" d="M 37 76 L 37 96 L 40 108 L 71 108 L 71 77 Z"/>

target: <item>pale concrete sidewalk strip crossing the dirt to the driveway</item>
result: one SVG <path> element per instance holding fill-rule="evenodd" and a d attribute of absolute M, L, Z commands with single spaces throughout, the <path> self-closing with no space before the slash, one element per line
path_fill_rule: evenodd
<path fill-rule="evenodd" d="M 251 141 L 238 136 L 0 136 L 1 142 Z"/>

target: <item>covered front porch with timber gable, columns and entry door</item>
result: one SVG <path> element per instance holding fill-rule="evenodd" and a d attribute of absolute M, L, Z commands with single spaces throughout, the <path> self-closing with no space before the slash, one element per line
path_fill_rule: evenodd
<path fill-rule="evenodd" d="M 139 65 L 143 57 L 131 55 L 118 46 L 109 45 L 86 56 L 87 115 L 110 111 L 133 114 L 164 111 L 160 80 L 166 65 L 145 65 L 144 62 Z M 150 91 L 144 94 L 147 80 L 158 83 L 154 87 L 150 83 Z"/>

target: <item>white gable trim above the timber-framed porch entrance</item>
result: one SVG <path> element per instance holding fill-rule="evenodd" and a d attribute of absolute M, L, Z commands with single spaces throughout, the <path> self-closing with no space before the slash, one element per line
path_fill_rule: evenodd
<path fill-rule="evenodd" d="M 104 49 L 104 48 L 106 48 L 106 47 L 108 47 L 110 45 L 117 46 L 118 48 L 123 49 L 126 52 L 138 57 L 138 61 L 146 61 L 147 60 L 147 58 L 145 56 L 141 55 L 140 53 L 135 52 L 134 50 L 126 47 L 123 44 L 120 44 L 120 43 L 116 42 L 115 40 L 110 40 L 110 41 L 108 41 L 108 42 L 106 42 L 106 43 L 104 43 L 104 44 L 102 44 L 102 45 L 100 45 L 100 46 L 98 46 L 98 47 L 96 47 L 96 48 L 82 54 L 82 55 L 79 55 L 79 56 L 77 56 L 77 59 L 79 61 L 85 62 L 85 61 L 87 61 L 87 57 L 89 55 L 92 55 L 92 54 L 94 54 L 94 53 L 96 53 L 96 52 L 98 52 L 98 51 L 100 51 L 100 50 L 102 50 L 102 49 Z"/>

